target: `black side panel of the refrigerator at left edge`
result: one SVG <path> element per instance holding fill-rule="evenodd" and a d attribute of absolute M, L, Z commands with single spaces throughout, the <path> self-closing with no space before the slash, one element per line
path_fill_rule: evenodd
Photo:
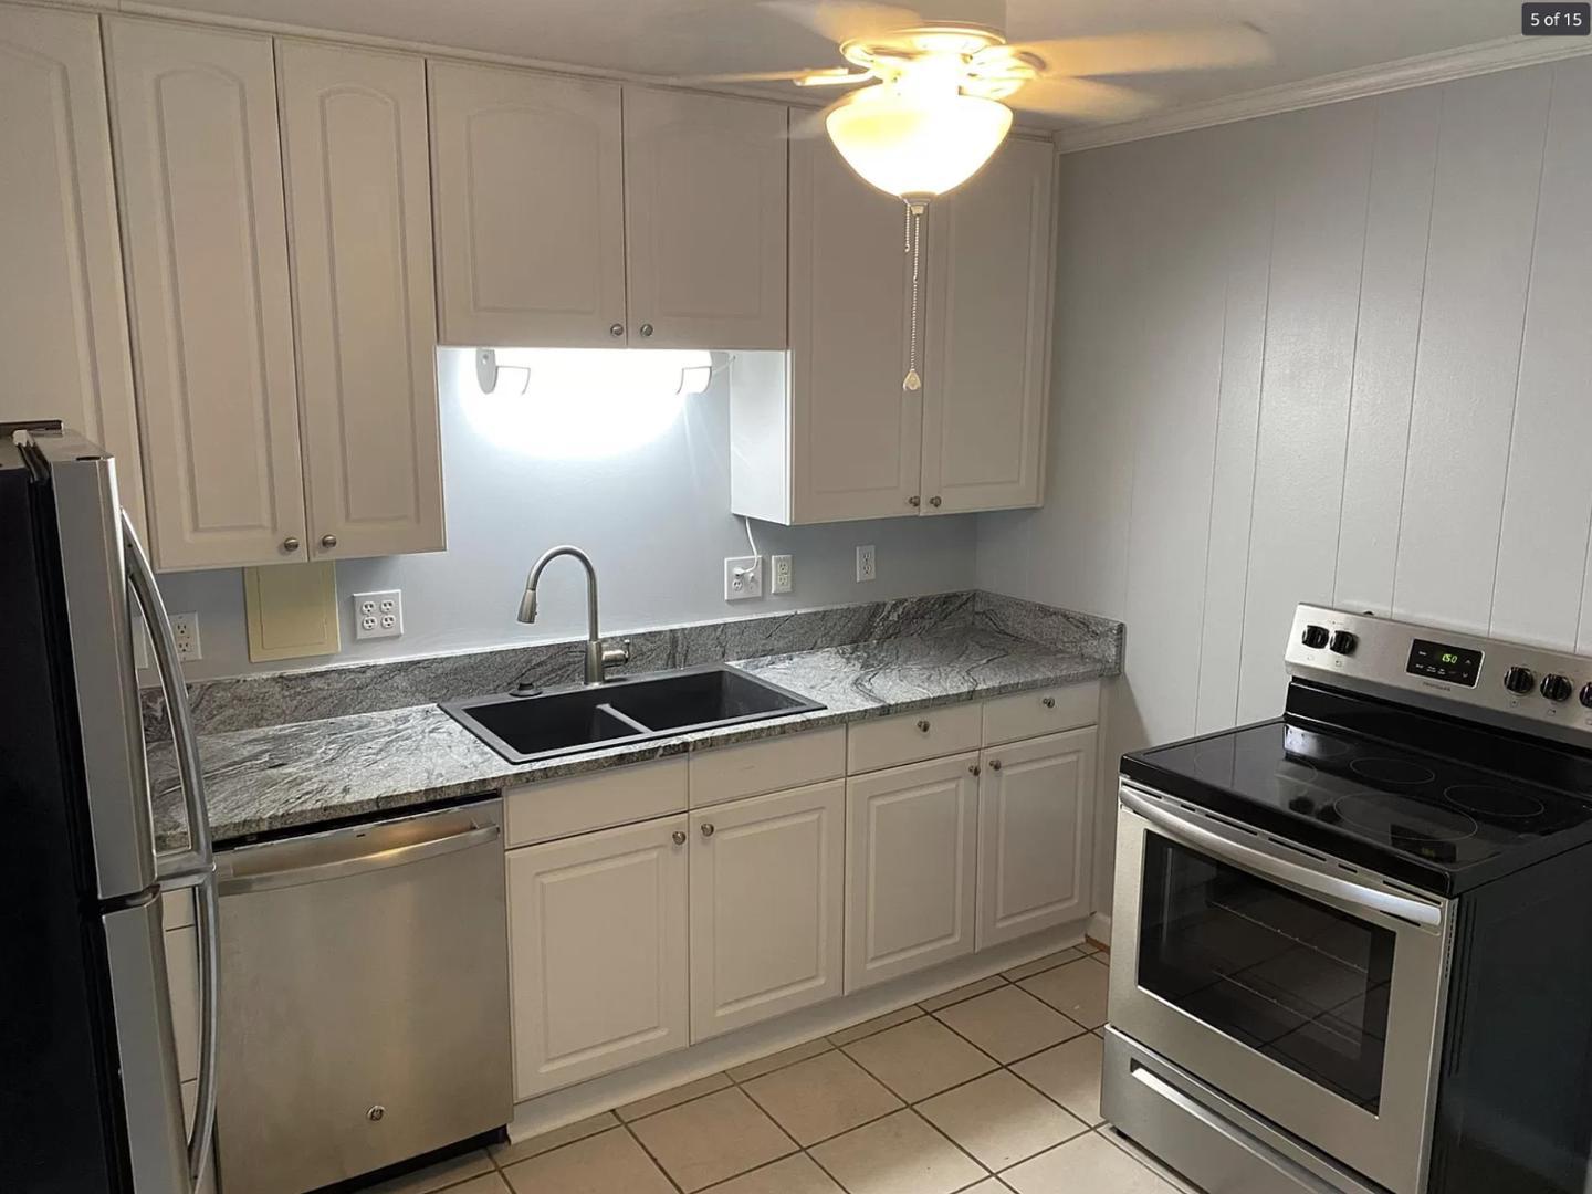
<path fill-rule="evenodd" d="M 0 1188 L 131 1191 L 54 514 L 0 443 Z"/>

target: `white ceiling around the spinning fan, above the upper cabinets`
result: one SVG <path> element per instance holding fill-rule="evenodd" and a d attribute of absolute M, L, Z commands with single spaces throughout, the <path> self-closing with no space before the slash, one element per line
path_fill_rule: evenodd
<path fill-rule="evenodd" d="M 899 0 L 911 3 L 911 0 Z M 167 6 L 632 75 L 839 65 L 758 0 L 164 0 Z M 941 5 L 944 6 L 944 5 Z M 1138 76 L 1169 108 L 1519 35 L 1506 0 L 1008 0 L 1013 41 L 1251 21 L 1262 67 Z M 786 94 L 786 92 L 780 92 Z M 790 89 L 793 97 L 794 88 Z M 809 92 L 810 94 L 810 92 Z"/>

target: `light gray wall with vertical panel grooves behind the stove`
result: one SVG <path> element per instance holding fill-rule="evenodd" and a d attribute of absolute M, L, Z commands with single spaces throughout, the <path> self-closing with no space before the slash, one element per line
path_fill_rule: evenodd
<path fill-rule="evenodd" d="M 979 583 L 1127 622 L 1106 758 L 1275 715 L 1299 600 L 1592 651 L 1592 59 L 1070 154 L 1060 205 L 1046 505 Z"/>

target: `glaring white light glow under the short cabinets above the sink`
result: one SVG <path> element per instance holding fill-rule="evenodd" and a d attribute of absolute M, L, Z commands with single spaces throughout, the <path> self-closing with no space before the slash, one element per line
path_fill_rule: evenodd
<path fill-rule="evenodd" d="M 697 350 L 498 349 L 498 384 L 482 393 L 460 353 L 460 404 L 486 439 L 544 460 L 592 460 L 646 444 L 707 388 L 713 358 Z"/>

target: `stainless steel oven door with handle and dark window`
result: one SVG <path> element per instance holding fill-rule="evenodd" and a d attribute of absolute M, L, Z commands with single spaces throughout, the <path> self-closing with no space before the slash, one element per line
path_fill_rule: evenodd
<path fill-rule="evenodd" d="M 1418 1194 L 1452 906 L 1124 783 L 1111 1024 Z"/>

